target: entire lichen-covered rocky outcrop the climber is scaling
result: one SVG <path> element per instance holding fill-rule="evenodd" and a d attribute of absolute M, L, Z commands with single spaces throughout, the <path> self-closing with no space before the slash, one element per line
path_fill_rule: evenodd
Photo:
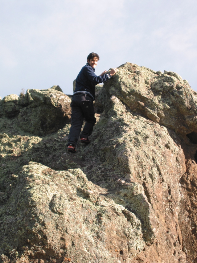
<path fill-rule="evenodd" d="M 174 72 L 121 65 L 76 154 L 70 124 L 39 124 L 36 108 L 69 116 L 59 88 L 3 98 L 0 262 L 197 262 L 196 94 Z"/>

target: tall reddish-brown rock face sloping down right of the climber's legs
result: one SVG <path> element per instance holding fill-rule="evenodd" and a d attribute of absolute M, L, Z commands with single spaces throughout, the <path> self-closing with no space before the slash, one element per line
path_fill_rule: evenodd
<path fill-rule="evenodd" d="M 107 188 L 108 198 L 140 219 L 147 245 L 139 253 L 141 258 L 185 262 L 179 226 L 183 194 L 179 181 L 186 171 L 184 144 L 172 130 L 131 113 L 117 97 L 109 101 L 111 108 L 92 134 L 88 157 L 94 156 L 94 162 L 87 177 Z"/>

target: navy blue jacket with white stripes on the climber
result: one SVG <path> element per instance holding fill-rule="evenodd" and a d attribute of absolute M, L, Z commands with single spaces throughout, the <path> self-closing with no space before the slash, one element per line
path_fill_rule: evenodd
<path fill-rule="evenodd" d="M 90 64 L 86 64 L 76 77 L 76 88 L 74 91 L 78 93 L 80 91 L 89 92 L 95 99 L 95 86 L 111 78 L 110 74 L 104 74 L 103 76 L 96 76 L 94 73 L 95 68 L 92 68 Z"/>

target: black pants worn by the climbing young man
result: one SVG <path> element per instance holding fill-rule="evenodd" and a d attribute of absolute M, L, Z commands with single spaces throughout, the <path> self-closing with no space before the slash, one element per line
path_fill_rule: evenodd
<path fill-rule="evenodd" d="M 94 113 L 93 99 L 91 96 L 88 94 L 73 95 L 71 102 L 71 127 L 67 146 L 70 144 L 76 146 L 79 136 L 80 138 L 87 138 L 92 134 L 93 127 L 96 123 Z M 86 122 L 81 132 L 84 120 Z"/>

